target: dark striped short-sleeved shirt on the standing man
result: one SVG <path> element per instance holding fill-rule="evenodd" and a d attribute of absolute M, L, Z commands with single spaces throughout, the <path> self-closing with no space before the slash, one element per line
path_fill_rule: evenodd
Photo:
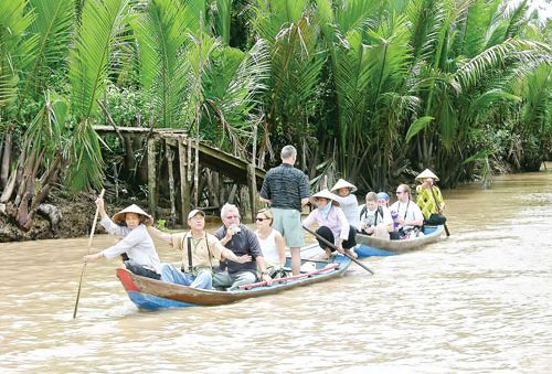
<path fill-rule="evenodd" d="M 269 200 L 270 207 L 301 211 L 301 200 L 309 196 L 307 175 L 289 163 L 268 170 L 261 196 Z"/>

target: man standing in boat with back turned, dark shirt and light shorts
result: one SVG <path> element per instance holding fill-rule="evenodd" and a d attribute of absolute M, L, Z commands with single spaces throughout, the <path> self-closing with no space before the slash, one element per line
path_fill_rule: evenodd
<path fill-rule="evenodd" d="M 291 271 L 300 273 L 300 247 L 305 244 L 301 229 L 302 205 L 309 201 L 309 181 L 294 168 L 297 149 L 286 146 L 280 152 L 282 164 L 268 170 L 261 189 L 261 201 L 270 204 L 274 228 L 279 231 L 291 250 Z"/>

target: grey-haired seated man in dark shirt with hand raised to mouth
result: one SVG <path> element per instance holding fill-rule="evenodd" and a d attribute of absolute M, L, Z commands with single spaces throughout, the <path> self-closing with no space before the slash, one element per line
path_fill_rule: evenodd
<path fill-rule="evenodd" d="M 257 281 L 257 265 L 261 269 L 261 279 L 268 285 L 272 282 L 266 268 L 265 258 L 261 250 L 255 233 L 240 223 L 240 211 L 234 204 L 224 204 L 221 209 L 223 226 L 214 234 L 221 244 L 231 249 L 234 254 L 248 256 L 252 260 L 247 263 L 236 263 L 231 257 L 224 264 L 226 269 L 213 276 L 213 286 L 216 288 L 227 288 L 229 291 L 236 290 L 240 286 L 251 285 Z"/>

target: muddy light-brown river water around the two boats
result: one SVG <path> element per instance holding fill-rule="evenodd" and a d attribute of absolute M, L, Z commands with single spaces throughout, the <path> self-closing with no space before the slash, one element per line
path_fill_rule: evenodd
<path fill-rule="evenodd" d="M 344 278 L 141 312 L 87 238 L 1 244 L 2 372 L 526 372 L 552 366 L 552 173 L 445 191 L 452 236 Z M 103 248 L 113 237 L 98 236 Z M 159 244 L 163 260 L 179 254 Z"/>

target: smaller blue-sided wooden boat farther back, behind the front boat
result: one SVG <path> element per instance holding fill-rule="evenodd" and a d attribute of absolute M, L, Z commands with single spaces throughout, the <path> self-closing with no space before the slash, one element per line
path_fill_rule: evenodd
<path fill-rule="evenodd" d="M 397 255 L 438 241 L 444 229 L 444 225 L 424 226 L 423 236 L 402 241 L 383 239 L 358 233 L 357 243 L 360 246 L 354 248 L 354 252 L 359 255 L 359 258 Z"/>

